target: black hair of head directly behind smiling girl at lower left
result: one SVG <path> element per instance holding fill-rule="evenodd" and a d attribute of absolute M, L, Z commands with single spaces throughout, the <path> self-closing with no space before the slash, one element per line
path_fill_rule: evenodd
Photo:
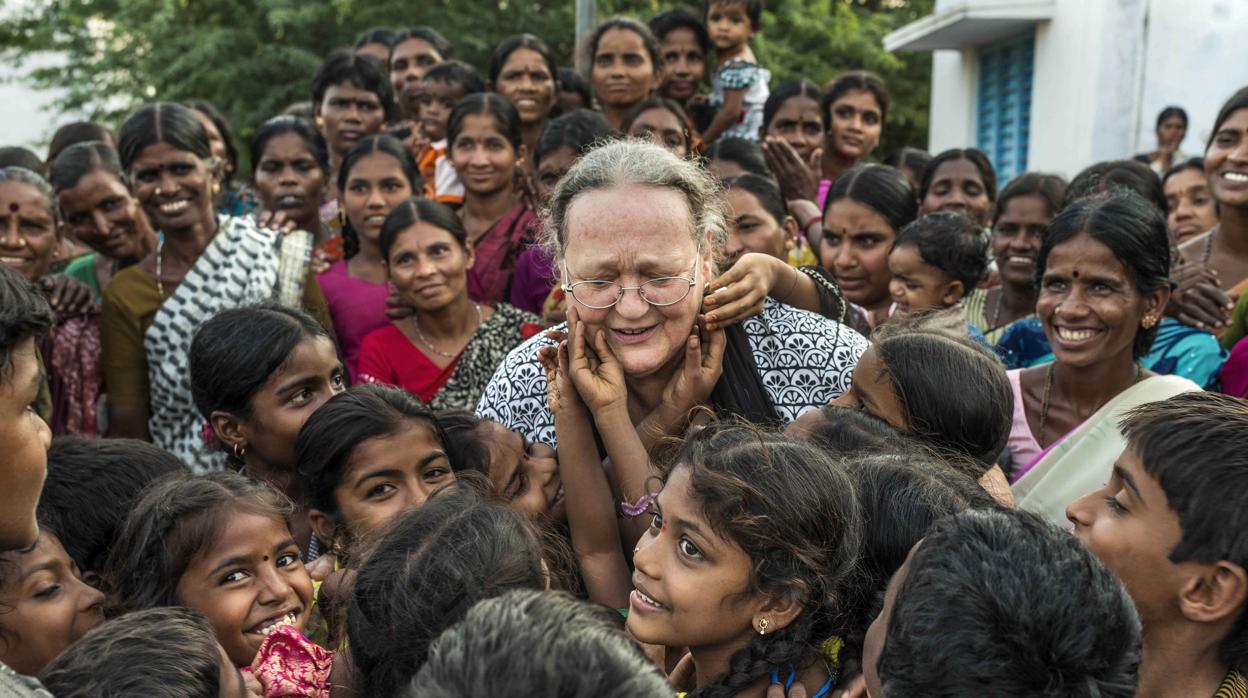
<path fill-rule="evenodd" d="M 62 436 L 47 450 L 39 523 L 84 573 L 104 571 L 126 514 L 157 479 L 187 473 L 176 456 L 135 438 Z"/>

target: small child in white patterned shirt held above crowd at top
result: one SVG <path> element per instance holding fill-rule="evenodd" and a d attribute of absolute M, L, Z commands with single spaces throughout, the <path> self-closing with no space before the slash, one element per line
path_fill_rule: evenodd
<path fill-rule="evenodd" d="M 718 114 L 703 131 L 703 142 L 720 136 L 756 141 L 771 80 L 750 50 L 750 39 L 763 29 L 763 0 L 706 0 L 705 9 L 715 45 L 710 105 Z"/>

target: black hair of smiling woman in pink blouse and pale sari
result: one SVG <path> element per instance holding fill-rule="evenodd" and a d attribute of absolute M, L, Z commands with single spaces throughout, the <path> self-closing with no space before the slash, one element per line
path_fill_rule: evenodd
<path fill-rule="evenodd" d="M 1048 253 L 1053 247 L 1080 235 L 1108 247 L 1127 267 L 1138 293 L 1148 295 L 1171 285 L 1171 237 L 1164 214 L 1138 194 L 1119 190 L 1081 199 L 1062 209 L 1048 224 L 1036 262 L 1036 286 L 1043 282 Z M 1157 325 L 1148 330 L 1137 328 L 1134 358 L 1148 353 L 1157 332 Z"/>

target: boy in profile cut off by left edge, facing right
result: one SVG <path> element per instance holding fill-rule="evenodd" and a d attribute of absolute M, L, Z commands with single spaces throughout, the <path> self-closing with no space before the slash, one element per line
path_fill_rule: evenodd
<path fill-rule="evenodd" d="M 40 370 L 37 338 L 52 325 L 52 308 L 19 272 L 0 265 L 0 552 L 39 541 L 35 507 L 47 472 L 52 432 L 35 413 Z M 0 663 L 0 696 L 46 696 L 39 682 Z"/>

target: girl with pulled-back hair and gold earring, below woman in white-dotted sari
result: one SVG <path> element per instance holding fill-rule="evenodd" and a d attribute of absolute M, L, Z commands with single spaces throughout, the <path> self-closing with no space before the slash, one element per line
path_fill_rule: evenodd
<path fill-rule="evenodd" d="M 227 310 L 191 341 L 191 395 L 206 433 L 230 466 L 290 497 L 295 539 L 308 561 L 323 549 L 303 513 L 295 437 L 346 388 L 333 340 L 303 311 L 278 305 Z"/>

